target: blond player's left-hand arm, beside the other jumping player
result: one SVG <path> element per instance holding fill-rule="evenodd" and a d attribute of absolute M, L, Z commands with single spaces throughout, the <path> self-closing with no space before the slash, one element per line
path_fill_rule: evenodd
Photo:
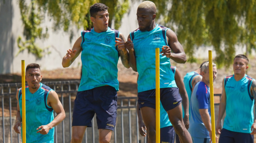
<path fill-rule="evenodd" d="M 127 42 L 125 42 L 125 47 L 129 51 L 129 65 L 132 67 L 133 71 L 137 72 L 137 65 L 136 65 L 136 57 L 134 51 L 133 41 L 131 40 L 131 36 L 129 34 Z"/>

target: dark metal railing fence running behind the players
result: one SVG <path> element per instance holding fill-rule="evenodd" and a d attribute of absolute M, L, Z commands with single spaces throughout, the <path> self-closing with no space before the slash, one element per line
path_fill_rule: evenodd
<path fill-rule="evenodd" d="M 42 83 L 57 92 L 62 106 L 66 111 L 66 118 L 55 127 L 54 143 L 70 143 L 72 133 L 72 107 L 74 106 L 74 98 L 80 80 Z M 0 103 L 2 104 L 2 122 L 0 122 L 1 143 L 21 143 L 20 134 L 17 134 L 13 130 L 17 110 L 16 92 L 20 87 L 21 83 L 0 84 Z M 220 96 L 220 94 L 216 96 Z M 117 98 L 117 123 L 111 143 L 146 143 L 146 137 L 139 135 L 136 104 L 137 97 Z M 9 108 L 7 108 L 8 106 Z M 54 115 L 56 116 L 55 113 Z M 97 130 L 97 125 L 94 125 L 95 121 L 96 119 L 94 117 L 92 128 L 87 128 L 82 143 L 98 142 L 99 133 L 95 131 Z"/>

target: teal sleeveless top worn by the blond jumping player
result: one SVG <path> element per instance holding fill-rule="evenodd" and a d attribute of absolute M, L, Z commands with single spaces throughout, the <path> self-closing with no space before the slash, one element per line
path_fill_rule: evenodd
<path fill-rule="evenodd" d="M 156 24 L 151 31 L 141 32 L 137 29 L 130 32 L 139 73 L 138 92 L 155 89 L 155 48 L 162 51 L 168 45 L 166 31 L 169 28 Z M 160 88 L 177 87 L 174 73 L 170 69 L 170 59 L 160 54 Z"/>

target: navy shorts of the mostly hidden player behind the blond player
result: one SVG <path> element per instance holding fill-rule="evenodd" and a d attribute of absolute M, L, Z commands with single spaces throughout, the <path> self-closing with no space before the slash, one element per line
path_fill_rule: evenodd
<path fill-rule="evenodd" d="M 174 143 L 175 131 L 173 126 L 167 126 L 160 129 L 160 143 Z"/>

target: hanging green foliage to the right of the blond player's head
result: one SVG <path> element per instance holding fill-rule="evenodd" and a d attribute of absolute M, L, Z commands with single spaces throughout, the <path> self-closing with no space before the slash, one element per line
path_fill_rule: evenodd
<path fill-rule="evenodd" d="M 255 0 L 152 0 L 172 27 L 189 61 L 199 46 L 213 45 L 218 66 L 229 66 L 235 45 L 256 49 Z"/>

